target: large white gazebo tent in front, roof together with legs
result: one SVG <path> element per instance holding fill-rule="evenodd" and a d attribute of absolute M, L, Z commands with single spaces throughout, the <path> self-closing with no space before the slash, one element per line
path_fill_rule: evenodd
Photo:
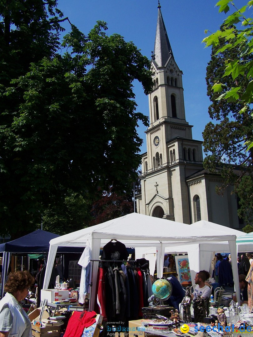
<path fill-rule="evenodd" d="M 111 239 L 120 240 L 126 247 L 156 247 L 157 273 L 159 277 L 162 277 L 165 247 L 227 241 L 231 258 L 234 259 L 232 264 L 233 274 L 238 275 L 235 235 L 218 231 L 213 233 L 213 231 L 208 231 L 207 229 L 195 228 L 193 225 L 189 226 L 180 222 L 165 221 L 160 218 L 131 213 L 51 240 L 43 288 L 47 289 L 48 287 L 58 246 L 85 247 L 87 240 L 89 240 L 92 251 L 91 257 L 93 260 L 97 260 L 99 259 L 100 247 L 103 247 Z M 194 266 L 194 258 L 189 257 L 189 263 Z M 96 284 L 97 270 L 98 262 L 94 262 L 93 284 Z M 234 277 L 234 279 L 236 293 L 239 295 L 238 277 Z M 95 288 L 93 286 L 91 289 L 91 310 L 94 307 Z"/>

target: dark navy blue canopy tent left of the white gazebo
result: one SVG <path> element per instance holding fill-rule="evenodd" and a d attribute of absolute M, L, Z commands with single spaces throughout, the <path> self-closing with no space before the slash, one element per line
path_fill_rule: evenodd
<path fill-rule="evenodd" d="M 0 244 L 0 252 L 3 252 L 3 270 L 0 297 L 3 296 L 4 284 L 9 268 L 11 253 L 47 253 L 49 251 L 49 241 L 60 235 L 37 229 L 30 234 L 19 239 Z M 74 249 L 73 249 L 74 248 Z M 61 253 L 82 253 L 83 247 L 59 247 Z"/>

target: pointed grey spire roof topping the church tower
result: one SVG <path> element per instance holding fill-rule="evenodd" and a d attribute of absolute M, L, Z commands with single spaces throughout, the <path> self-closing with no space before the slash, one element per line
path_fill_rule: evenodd
<path fill-rule="evenodd" d="M 154 60 L 159 67 L 164 67 L 170 56 L 173 56 L 170 41 L 162 17 L 161 5 L 158 1 L 158 18 L 156 39 L 154 41 Z"/>

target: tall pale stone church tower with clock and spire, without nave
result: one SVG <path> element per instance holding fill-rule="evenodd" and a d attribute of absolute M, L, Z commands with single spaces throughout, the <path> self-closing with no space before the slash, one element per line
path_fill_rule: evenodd
<path fill-rule="evenodd" d="M 186 177 L 203 168 L 202 142 L 192 139 L 186 121 L 182 71 L 176 64 L 158 3 L 153 90 L 148 95 L 147 152 L 142 155 L 138 213 L 192 223 Z"/>

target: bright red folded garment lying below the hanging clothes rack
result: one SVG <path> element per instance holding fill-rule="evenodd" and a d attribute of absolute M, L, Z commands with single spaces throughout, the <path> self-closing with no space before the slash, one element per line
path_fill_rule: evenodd
<path fill-rule="evenodd" d="M 84 328 L 88 328 L 95 323 L 95 317 L 95 311 L 74 311 L 69 318 L 64 337 L 81 337 Z"/>

